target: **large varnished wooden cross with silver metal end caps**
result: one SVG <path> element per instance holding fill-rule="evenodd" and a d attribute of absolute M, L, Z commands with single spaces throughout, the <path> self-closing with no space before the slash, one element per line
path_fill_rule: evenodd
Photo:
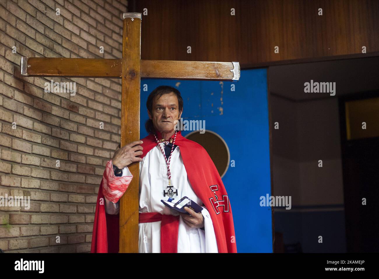
<path fill-rule="evenodd" d="M 139 140 L 143 78 L 223 80 L 240 78 L 238 62 L 141 60 L 141 13 L 124 13 L 122 59 L 22 57 L 22 76 L 121 78 L 121 145 Z M 120 202 L 119 252 L 138 252 L 139 164 Z"/>

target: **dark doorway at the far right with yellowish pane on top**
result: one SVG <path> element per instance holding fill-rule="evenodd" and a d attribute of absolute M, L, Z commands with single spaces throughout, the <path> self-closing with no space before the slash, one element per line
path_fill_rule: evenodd
<path fill-rule="evenodd" d="M 347 102 L 372 103 L 378 97 L 378 91 L 371 91 L 339 99 L 347 252 L 379 251 L 379 136 L 375 136 L 379 131 L 370 134 L 362 129 L 362 122 L 366 122 L 366 130 L 377 125 L 379 106 L 361 113 L 359 110 L 351 115 L 346 113 L 349 110 Z M 351 125 L 356 126 L 351 128 Z M 357 125 L 360 125 L 359 129 Z M 351 135 L 351 129 L 356 133 Z M 363 198 L 366 205 L 362 205 Z"/>

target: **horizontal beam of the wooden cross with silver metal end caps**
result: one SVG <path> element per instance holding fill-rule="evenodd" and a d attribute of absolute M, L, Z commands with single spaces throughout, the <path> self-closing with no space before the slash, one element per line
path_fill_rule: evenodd
<path fill-rule="evenodd" d="M 122 59 L 22 57 L 21 74 L 120 79 Z M 141 60 L 141 78 L 236 81 L 239 76 L 238 62 Z"/>

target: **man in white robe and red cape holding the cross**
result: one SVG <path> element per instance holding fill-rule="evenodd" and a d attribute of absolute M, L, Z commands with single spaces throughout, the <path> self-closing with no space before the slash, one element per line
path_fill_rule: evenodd
<path fill-rule="evenodd" d="M 108 161 L 96 203 L 91 252 L 118 252 L 119 199 L 133 178 L 128 166 L 139 162 L 139 252 L 236 252 L 232 209 L 208 153 L 185 139 L 175 125 L 183 99 L 160 86 L 146 102 L 149 136 L 115 151 Z M 180 213 L 161 200 L 188 197 L 203 207 Z M 105 199 L 105 203 L 102 202 Z"/>

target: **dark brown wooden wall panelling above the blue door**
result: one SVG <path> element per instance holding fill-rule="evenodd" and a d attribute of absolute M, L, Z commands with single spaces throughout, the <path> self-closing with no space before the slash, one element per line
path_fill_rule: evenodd
<path fill-rule="evenodd" d="M 249 68 L 379 54 L 377 0 L 129 1 L 130 11 L 143 13 L 144 8 L 142 59 L 239 61 L 241 68 Z M 362 46 L 367 47 L 365 55 Z"/>

